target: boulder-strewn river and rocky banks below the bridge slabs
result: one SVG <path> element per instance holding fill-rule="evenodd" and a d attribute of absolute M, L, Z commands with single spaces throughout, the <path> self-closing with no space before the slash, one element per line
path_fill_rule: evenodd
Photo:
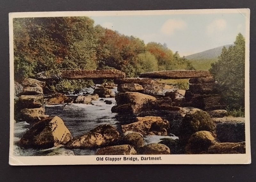
<path fill-rule="evenodd" d="M 212 79 L 189 82 L 204 85 L 205 98 L 217 94 Z M 118 78 L 84 91 L 43 95 L 44 82 L 22 84 L 15 99 L 17 155 L 245 153 L 244 118 L 193 107 L 191 93 L 202 92 L 194 86 L 185 91 L 150 78 Z"/>

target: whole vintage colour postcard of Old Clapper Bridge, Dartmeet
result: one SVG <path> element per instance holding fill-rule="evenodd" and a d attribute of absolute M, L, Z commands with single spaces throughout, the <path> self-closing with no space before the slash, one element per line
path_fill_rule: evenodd
<path fill-rule="evenodd" d="M 13 12 L 10 165 L 249 164 L 249 9 Z"/>

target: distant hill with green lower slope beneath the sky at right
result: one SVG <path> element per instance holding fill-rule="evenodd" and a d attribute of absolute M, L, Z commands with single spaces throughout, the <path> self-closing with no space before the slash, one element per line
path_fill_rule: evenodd
<path fill-rule="evenodd" d="M 227 49 L 234 44 L 224 45 Z M 209 49 L 203 52 L 198 52 L 195 54 L 191 54 L 189 56 L 185 56 L 186 59 L 189 59 L 197 70 L 199 69 L 210 69 L 211 64 L 218 60 L 218 56 L 220 56 L 223 46 L 216 47 L 213 49 Z"/>

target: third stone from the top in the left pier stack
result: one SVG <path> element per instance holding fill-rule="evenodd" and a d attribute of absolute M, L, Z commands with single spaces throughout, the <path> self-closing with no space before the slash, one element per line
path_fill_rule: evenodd
<path fill-rule="evenodd" d="M 21 95 L 19 98 L 20 108 L 40 108 L 44 104 L 42 95 Z"/>

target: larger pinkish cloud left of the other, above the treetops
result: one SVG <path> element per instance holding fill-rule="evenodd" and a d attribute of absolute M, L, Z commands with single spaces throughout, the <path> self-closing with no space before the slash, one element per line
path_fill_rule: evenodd
<path fill-rule="evenodd" d="M 161 32 L 172 36 L 176 30 L 185 30 L 187 28 L 187 23 L 183 20 L 175 20 L 175 19 L 169 19 L 164 22 Z"/>

